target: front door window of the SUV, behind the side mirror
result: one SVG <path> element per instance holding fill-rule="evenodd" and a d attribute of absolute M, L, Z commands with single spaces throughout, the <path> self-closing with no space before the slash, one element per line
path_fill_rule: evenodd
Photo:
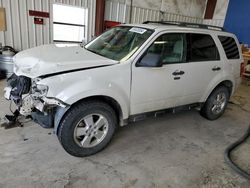
<path fill-rule="evenodd" d="M 168 33 L 158 37 L 145 55 L 158 56 L 161 64 L 182 63 L 186 59 L 186 35 Z"/>

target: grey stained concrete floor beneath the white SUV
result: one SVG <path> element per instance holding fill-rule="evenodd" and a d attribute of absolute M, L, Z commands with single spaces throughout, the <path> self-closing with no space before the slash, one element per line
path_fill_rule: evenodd
<path fill-rule="evenodd" d="M 0 82 L 0 91 L 5 82 Z M 28 122 L 0 129 L 0 187 L 250 187 L 224 162 L 225 148 L 250 124 L 250 87 L 241 86 L 223 117 L 195 110 L 121 128 L 102 152 L 68 155 L 52 130 Z M 0 96 L 0 116 L 8 112 Z M 234 159 L 250 172 L 250 139 Z"/>

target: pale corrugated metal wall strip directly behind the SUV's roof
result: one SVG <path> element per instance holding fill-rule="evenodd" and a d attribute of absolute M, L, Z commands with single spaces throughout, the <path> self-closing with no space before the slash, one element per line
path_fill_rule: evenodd
<path fill-rule="evenodd" d="M 124 3 L 106 1 L 105 20 L 129 23 L 130 5 Z M 223 26 L 224 20 L 204 20 L 202 18 L 184 16 L 180 14 L 161 12 L 160 10 L 132 7 L 132 23 L 142 23 L 149 21 L 182 21 L 190 23 L 206 23 L 210 25 Z"/>

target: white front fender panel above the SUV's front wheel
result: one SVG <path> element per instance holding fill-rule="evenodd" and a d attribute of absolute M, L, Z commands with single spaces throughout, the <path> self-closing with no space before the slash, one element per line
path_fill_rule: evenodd
<path fill-rule="evenodd" d="M 87 97 L 110 97 L 120 105 L 123 119 L 127 119 L 130 104 L 129 71 L 123 69 L 123 72 L 118 70 L 111 72 L 112 75 L 105 73 L 104 68 L 80 71 L 48 77 L 41 80 L 39 84 L 49 87 L 47 97 L 57 98 L 69 105 Z"/>

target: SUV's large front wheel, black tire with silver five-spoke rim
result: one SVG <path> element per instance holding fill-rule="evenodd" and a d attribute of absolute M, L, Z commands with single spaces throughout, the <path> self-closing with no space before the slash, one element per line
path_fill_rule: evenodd
<path fill-rule="evenodd" d="M 62 119 L 58 139 L 71 155 L 84 157 L 104 149 L 117 126 L 114 110 L 103 102 L 82 102 Z"/>

